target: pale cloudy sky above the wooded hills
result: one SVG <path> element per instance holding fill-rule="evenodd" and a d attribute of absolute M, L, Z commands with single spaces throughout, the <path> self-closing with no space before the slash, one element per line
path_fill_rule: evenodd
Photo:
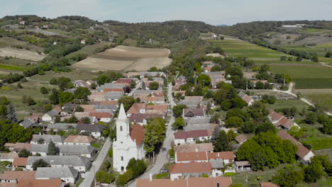
<path fill-rule="evenodd" d="M 332 20 L 332 0 L 0 0 L 0 17 L 86 16 L 128 23 L 171 20 L 233 25 L 250 21 Z"/>

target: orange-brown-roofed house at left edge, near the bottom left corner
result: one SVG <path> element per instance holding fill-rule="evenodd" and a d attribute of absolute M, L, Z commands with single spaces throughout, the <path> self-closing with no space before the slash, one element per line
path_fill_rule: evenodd
<path fill-rule="evenodd" d="M 0 174 L 0 183 L 17 183 L 24 179 L 35 179 L 36 171 L 4 171 Z M 1 186 L 0 184 L 0 186 Z"/>

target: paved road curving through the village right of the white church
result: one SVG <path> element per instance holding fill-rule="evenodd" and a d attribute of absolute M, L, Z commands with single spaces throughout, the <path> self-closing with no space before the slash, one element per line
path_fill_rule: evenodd
<path fill-rule="evenodd" d="M 170 101 L 170 105 L 173 107 L 176 105 L 176 103 L 173 101 L 172 97 L 172 84 L 168 85 L 168 100 Z M 166 138 L 165 141 L 162 145 L 162 148 L 160 149 L 159 154 L 157 154 L 157 158 L 155 159 L 155 164 L 151 169 L 148 171 L 145 171 L 143 175 L 138 177 L 138 179 L 149 179 L 150 174 L 155 175 L 159 174 L 160 169 L 162 169 L 162 166 L 164 166 L 168 162 L 167 158 L 167 152 L 170 150 L 172 147 L 172 142 L 173 142 L 173 130 L 172 130 L 172 124 L 175 122 L 175 118 L 172 115 L 170 118 L 170 121 L 167 123 L 167 130 L 166 130 Z M 131 183 L 128 187 L 135 187 L 136 186 L 136 181 Z"/>

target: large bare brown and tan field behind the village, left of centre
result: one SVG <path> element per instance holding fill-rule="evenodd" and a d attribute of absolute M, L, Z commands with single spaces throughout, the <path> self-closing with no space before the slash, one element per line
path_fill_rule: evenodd
<path fill-rule="evenodd" d="M 145 71 L 150 67 L 166 67 L 172 60 L 170 50 L 119 45 L 99 52 L 85 60 L 73 64 L 73 67 L 114 71 Z"/>

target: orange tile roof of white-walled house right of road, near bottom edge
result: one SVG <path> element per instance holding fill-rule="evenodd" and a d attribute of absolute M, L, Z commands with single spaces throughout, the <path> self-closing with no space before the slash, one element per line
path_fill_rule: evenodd
<path fill-rule="evenodd" d="M 177 163 L 170 165 L 170 174 L 211 173 L 209 162 Z"/>

